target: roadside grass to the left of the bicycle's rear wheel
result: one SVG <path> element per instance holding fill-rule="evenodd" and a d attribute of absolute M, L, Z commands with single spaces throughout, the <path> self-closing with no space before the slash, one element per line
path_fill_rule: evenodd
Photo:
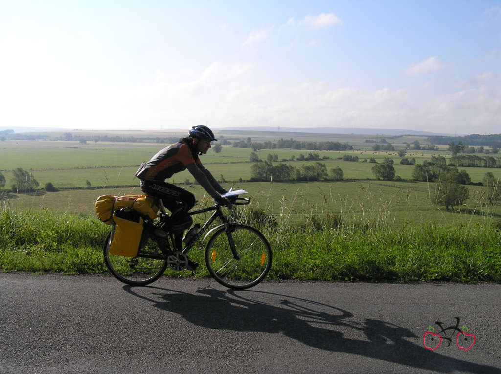
<path fill-rule="evenodd" d="M 0 269 L 99 273 L 109 229 L 97 218 L 47 209 L 0 211 Z"/>

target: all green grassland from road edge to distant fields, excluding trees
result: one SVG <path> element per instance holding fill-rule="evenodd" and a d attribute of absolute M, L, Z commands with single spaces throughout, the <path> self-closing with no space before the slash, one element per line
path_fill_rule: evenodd
<path fill-rule="evenodd" d="M 280 133 L 227 133 L 226 139 L 276 140 Z M 297 134 L 295 134 L 297 135 Z M 239 220 L 256 225 L 269 238 L 274 250 L 273 279 L 323 280 L 453 280 L 499 281 L 501 279 L 501 205 L 487 202 L 485 187 L 469 185 L 469 198 L 454 211 L 431 203 L 436 183 L 411 180 L 414 165 L 399 164 L 397 151 L 372 151 L 369 135 L 301 134 L 312 141 L 348 142 L 354 150 L 313 151 L 261 149 L 294 167 L 316 161 L 298 161 L 301 154 L 317 153 L 327 169 L 339 166 L 341 181 L 251 182 L 251 148 L 223 146 L 210 150 L 201 160 L 225 188 L 243 188 L 252 197 L 237 209 Z M 375 135 L 374 135 L 375 136 Z M 291 136 L 293 135 L 291 134 Z M 280 138 L 280 137 L 278 137 Z M 390 139 L 395 147 L 424 137 Z M 88 142 L 61 140 L 6 140 L 0 142 L 0 169 L 6 187 L 12 184 L 12 169 L 33 172 L 40 187 L 51 182 L 57 192 L 4 193 L 0 207 L 0 269 L 3 271 L 57 271 L 106 273 L 101 243 L 110 226 L 99 222 L 94 202 L 99 195 L 140 194 L 134 176 L 138 165 L 166 144 Z M 443 148 L 443 147 L 442 147 Z M 398 149 L 397 149 L 398 150 Z M 343 155 L 358 156 L 344 161 Z M 416 163 L 441 154 L 438 151 L 407 150 L 405 157 Z M 394 160 L 402 180 L 376 180 L 374 157 Z M 499 169 L 465 169 L 472 182 L 485 172 L 501 177 Z M 185 181 L 189 183 L 185 184 Z M 210 203 L 203 189 L 193 184 L 188 172 L 172 180 L 199 200 Z M 90 182 L 90 187 L 88 182 Z M 200 217 L 202 219 L 203 217 Z M 201 260 L 202 251 L 192 256 Z M 173 274 L 170 274 L 173 275 Z M 178 275 L 178 274 L 177 274 Z M 206 276 L 201 270 L 198 276 Z"/>

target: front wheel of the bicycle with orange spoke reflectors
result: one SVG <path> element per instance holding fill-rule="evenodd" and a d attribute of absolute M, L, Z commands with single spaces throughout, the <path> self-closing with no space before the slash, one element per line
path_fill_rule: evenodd
<path fill-rule="evenodd" d="M 272 250 L 257 229 L 232 224 L 227 231 L 221 227 L 212 235 L 205 249 L 205 263 L 210 275 L 219 283 L 244 289 L 266 277 L 272 266 Z"/>

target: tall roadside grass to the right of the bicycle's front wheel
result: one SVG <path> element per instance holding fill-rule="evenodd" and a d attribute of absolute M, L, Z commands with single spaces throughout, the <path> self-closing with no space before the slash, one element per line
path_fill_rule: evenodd
<path fill-rule="evenodd" d="M 422 206 L 409 191 L 394 196 L 359 191 L 359 203 L 332 191 L 323 204 L 308 204 L 297 194 L 280 214 L 246 208 L 239 220 L 256 225 L 274 249 L 270 277 L 320 280 L 501 281 L 501 225 L 484 206 L 481 194 L 463 205 L 450 223 L 397 219 L 391 208 L 413 214 Z M 348 203 L 348 201 L 351 201 Z M 302 207 L 302 211 L 298 211 Z M 438 207 L 436 207 L 438 209 Z M 363 214 L 355 213 L 362 209 Z M 479 213 L 480 212 L 480 213 Z M 291 216 L 303 216 L 291 224 Z M 478 215 L 480 214 L 480 219 Z M 473 219 L 475 217 L 475 219 Z"/>

